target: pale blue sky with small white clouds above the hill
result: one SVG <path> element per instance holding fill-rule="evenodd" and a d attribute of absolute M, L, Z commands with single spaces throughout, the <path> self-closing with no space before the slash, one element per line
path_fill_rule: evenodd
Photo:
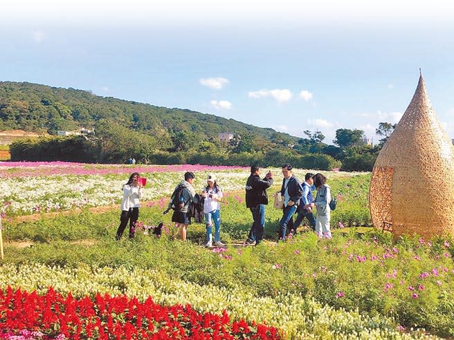
<path fill-rule="evenodd" d="M 0 4 L 0 81 L 188 108 L 303 137 L 397 123 L 421 68 L 454 138 L 449 1 Z M 235 131 L 226 131 L 235 132 Z"/>

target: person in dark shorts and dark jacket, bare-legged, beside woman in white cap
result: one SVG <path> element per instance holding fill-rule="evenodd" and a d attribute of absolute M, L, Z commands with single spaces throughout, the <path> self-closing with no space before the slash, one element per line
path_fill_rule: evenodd
<path fill-rule="evenodd" d="M 175 227 L 179 229 L 181 240 L 183 241 L 186 240 L 186 229 L 188 225 L 191 224 L 189 212 L 191 203 L 198 202 L 194 187 L 192 187 L 195 178 L 194 173 L 188 171 L 185 173 L 184 178 L 185 179 L 174 189 L 168 208 L 174 209 L 172 222 L 174 222 Z"/>

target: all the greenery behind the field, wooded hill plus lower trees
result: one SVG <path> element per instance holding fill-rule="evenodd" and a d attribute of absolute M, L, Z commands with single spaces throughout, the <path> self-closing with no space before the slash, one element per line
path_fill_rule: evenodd
<path fill-rule="evenodd" d="M 59 137 L 58 130 L 84 126 L 95 133 Z M 387 138 L 394 126 L 380 123 Z M 367 145 L 361 130 L 338 129 L 334 145 L 320 131 L 297 138 L 215 115 L 100 97 L 89 91 L 0 82 L 0 130 L 49 133 L 10 146 L 12 160 L 225 164 L 370 171 L 381 144 Z M 229 142 L 218 133 L 235 132 Z"/>

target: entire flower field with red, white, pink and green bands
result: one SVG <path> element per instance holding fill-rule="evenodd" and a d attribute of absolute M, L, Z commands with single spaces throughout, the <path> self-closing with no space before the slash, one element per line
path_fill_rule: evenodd
<path fill-rule="evenodd" d="M 271 169 L 270 193 L 280 187 L 279 170 Z M 136 238 L 117 242 L 121 185 L 133 171 L 148 178 L 147 201 Z M 185 171 L 196 174 L 196 191 L 208 173 L 226 191 L 221 240 L 228 247 L 203 248 L 199 223 L 188 227 L 187 242 L 174 240 L 162 211 Z M 295 172 L 303 178 L 307 170 Z M 242 191 L 248 174 L 238 167 L 4 163 L 0 339 L 454 337 L 453 240 L 393 243 L 370 228 L 369 173 L 326 173 L 338 196 L 332 240 L 301 232 L 276 244 L 280 211 L 269 206 L 260 247 L 242 245 L 252 220 Z M 61 210 L 68 212 L 44 214 Z M 18 218 L 27 214 L 41 218 Z M 161 238 L 145 233 L 160 222 Z"/>

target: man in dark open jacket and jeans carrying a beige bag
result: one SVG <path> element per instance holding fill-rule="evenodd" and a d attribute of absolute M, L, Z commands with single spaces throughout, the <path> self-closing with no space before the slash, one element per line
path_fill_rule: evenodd
<path fill-rule="evenodd" d="M 298 178 L 291 173 L 292 169 L 293 167 L 290 164 L 285 164 L 282 167 L 282 175 L 284 175 L 284 179 L 282 180 L 280 194 L 284 200 L 284 210 L 282 211 L 282 218 L 279 222 L 280 240 L 285 239 L 287 227 L 289 227 L 289 229 L 293 227 L 292 216 L 295 214 L 296 209 L 298 209 L 298 204 L 302 198 L 302 187 Z"/>

